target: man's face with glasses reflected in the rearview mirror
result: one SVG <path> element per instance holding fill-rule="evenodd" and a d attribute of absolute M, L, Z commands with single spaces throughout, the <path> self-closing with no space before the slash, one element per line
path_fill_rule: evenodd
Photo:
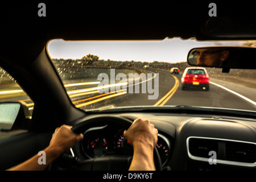
<path fill-rule="evenodd" d="M 223 62 L 229 57 L 229 50 L 225 48 L 197 48 L 191 51 L 196 65 L 208 67 L 222 67 Z"/>

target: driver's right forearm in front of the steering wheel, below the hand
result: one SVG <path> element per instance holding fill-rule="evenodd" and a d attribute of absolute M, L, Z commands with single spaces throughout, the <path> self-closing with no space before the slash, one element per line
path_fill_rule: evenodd
<path fill-rule="evenodd" d="M 133 161 L 129 171 L 155 171 L 154 146 L 134 144 Z"/>

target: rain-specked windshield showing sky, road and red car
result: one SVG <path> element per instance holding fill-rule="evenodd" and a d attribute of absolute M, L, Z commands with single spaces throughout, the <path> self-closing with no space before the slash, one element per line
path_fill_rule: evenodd
<path fill-rule="evenodd" d="M 191 48 L 246 46 L 246 42 L 51 40 L 48 54 L 73 104 L 82 110 L 133 106 L 256 109 L 256 71 L 189 69 Z M 248 44 L 249 45 L 249 44 Z M 174 69 L 179 69 L 175 71 Z"/>

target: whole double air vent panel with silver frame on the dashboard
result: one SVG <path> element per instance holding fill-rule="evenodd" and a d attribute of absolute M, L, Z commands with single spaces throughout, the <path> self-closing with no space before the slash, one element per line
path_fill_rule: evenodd
<path fill-rule="evenodd" d="M 216 152 L 216 164 L 256 167 L 256 143 L 222 138 L 187 138 L 190 159 L 209 162 L 212 157 L 210 151 Z"/>

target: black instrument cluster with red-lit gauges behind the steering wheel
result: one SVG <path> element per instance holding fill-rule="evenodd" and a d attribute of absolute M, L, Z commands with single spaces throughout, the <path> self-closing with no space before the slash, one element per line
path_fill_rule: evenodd
<path fill-rule="evenodd" d="M 123 131 L 127 128 L 116 125 L 104 125 L 90 127 L 84 131 L 84 139 L 80 142 L 81 156 L 89 159 L 101 158 L 108 155 L 133 156 L 133 147 L 124 137 Z M 166 164 L 170 158 L 171 139 L 163 134 L 158 134 L 156 149 L 162 164 Z"/>

